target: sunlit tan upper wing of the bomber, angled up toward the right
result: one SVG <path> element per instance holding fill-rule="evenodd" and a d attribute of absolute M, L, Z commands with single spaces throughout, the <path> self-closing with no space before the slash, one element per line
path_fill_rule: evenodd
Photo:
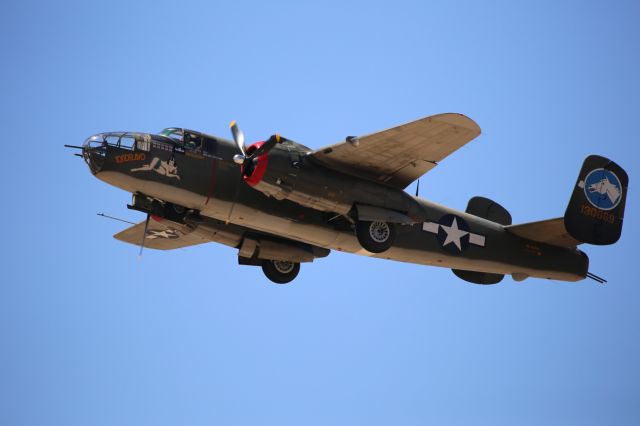
<path fill-rule="evenodd" d="M 462 114 L 439 114 L 309 154 L 342 173 L 405 188 L 480 134 Z"/>

